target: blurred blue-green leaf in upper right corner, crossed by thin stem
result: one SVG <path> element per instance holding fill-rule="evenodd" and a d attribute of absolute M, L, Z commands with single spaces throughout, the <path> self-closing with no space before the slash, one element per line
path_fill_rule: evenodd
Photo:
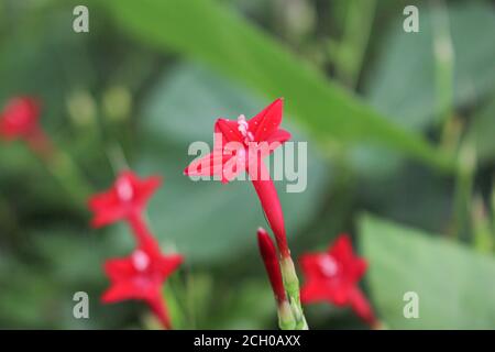
<path fill-rule="evenodd" d="M 438 109 L 433 29 L 430 7 L 419 7 L 420 31 L 403 31 L 404 16 L 389 26 L 365 87 L 369 101 L 400 125 L 418 130 L 433 121 Z M 457 108 L 479 101 L 495 81 L 494 7 L 464 1 L 448 10 L 454 55 Z"/>

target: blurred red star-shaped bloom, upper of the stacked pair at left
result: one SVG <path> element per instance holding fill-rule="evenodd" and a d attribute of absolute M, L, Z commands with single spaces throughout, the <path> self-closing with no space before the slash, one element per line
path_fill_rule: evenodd
<path fill-rule="evenodd" d="M 91 226 L 100 228 L 127 220 L 131 226 L 142 228 L 141 212 L 161 184 L 162 178 L 158 176 L 140 179 L 131 170 L 121 173 L 108 191 L 98 194 L 89 200 L 89 208 L 95 212 Z M 138 229 L 136 232 L 139 234 L 142 231 L 145 229 Z"/>

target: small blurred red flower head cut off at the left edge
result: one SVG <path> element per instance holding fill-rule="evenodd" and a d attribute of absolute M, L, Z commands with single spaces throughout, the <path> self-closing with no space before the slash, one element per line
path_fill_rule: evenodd
<path fill-rule="evenodd" d="M 30 97 L 18 97 L 9 101 L 0 116 L 0 136 L 11 140 L 29 138 L 38 129 L 40 105 Z"/>

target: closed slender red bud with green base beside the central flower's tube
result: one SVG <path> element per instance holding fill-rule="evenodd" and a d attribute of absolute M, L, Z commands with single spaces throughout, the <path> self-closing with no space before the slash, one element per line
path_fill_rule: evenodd
<path fill-rule="evenodd" d="M 257 245 L 277 302 L 278 326 L 282 330 L 292 330 L 296 327 L 296 321 L 285 293 L 277 250 L 268 233 L 262 228 L 257 230 Z"/>

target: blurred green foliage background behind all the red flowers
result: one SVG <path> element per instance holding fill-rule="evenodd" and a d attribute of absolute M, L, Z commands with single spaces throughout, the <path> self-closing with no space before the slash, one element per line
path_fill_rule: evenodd
<path fill-rule="evenodd" d="M 165 294 L 177 328 L 276 328 L 256 251 L 251 185 L 182 175 L 218 117 L 285 98 L 308 141 L 308 187 L 278 182 L 293 254 L 353 237 L 363 289 L 391 329 L 495 328 L 495 2 L 397 0 L 0 1 L 0 106 L 43 101 L 41 123 L 73 161 L 0 145 L 0 327 L 152 328 L 138 302 L 101 305 L 101 265 L 128 254 L 123 226 L 91 230 L 87 197 L 116 169 L 160 174 L 148 219 L 185 254 Z M 419 9 L 419 33 L 403 10 Z M 77 169 L 77 175 L 75 174 Z M 73 317 L 87 292 L 90 318 Z M 405 319 L 416 292 L 419 319 Z M 306 307 L 311 328 L 366 328 Z"/>

